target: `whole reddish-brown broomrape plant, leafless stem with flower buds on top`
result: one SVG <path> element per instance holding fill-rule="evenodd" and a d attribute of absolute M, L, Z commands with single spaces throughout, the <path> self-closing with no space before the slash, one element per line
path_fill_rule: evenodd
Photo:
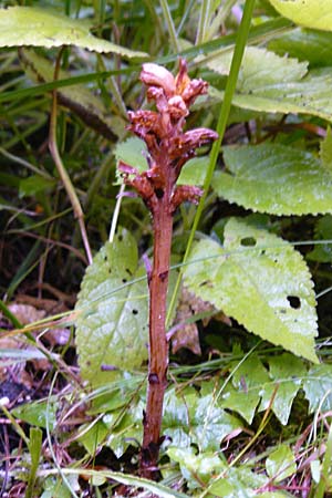
<path fill-rule="evenodd" d="M 144 412 L 144 436 L 141 452 L 141 475 L 156 474 L 163 401 L 167 386 L 168 343 L 166 338 L 166 297 L 173 234 L 173 215 L 185 200 L 196 203 L 201 190 L 194 186 L 176 186 L 183 166 L 204 144 L 217 139 L 216 132 L 196 128 L 184 132 L 189 107 L 207 92 L 203 80 L 190 80 L 185 60 L 179 61 L 176 77 L 165 68 L 143 65 L 141 80 L 147 86 L 147 98 L 157 111 L 129 112 L 128 129 L 142 138 L 148 151 L 148 169 L 138 172 L 120 163 L 126 185 L 142 197 L 153 217 L 154 261 L 148 270 L 149 288 L 149 356 L 147 405 Z"/>

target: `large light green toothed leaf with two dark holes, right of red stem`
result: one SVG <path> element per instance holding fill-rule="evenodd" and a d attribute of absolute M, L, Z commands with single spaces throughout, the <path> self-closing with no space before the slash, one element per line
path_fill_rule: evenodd
<path fill-rule="evenodd" d="M 225 227 L 225 245 L 206 238 L 184 269 L 189 290 L 248 331 L 318 362 L 315 297 L 310 272 L 293 247 L 241 219 Z"/>

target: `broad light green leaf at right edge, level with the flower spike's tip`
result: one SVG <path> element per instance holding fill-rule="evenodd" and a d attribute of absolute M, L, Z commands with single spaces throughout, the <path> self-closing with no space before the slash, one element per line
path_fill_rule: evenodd
<path fill-rule="evenodd" d="M 221 54 L 207 65 L 228 74 L 231 54 Z M 224 92 L 210 89 L 210 97 L 222 100 Z M 232 104 L 267 113 L 312 114 L 332 120 L 332 69 L 307 72 L 307 62 L 279 56 L 271 51 L 247 48 Z"/>

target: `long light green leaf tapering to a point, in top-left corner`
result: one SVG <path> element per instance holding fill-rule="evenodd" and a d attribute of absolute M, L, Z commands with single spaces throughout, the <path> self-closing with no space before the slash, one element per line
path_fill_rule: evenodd
<path fill-rule="evenodd" d="M 0 46 L 52 46 L 75 45 L 95 52 L 116 53 L 125 58 L 146 58 L 91 34 L 90 23 L 71 19 L 54 10 L 40 7 L 9 7 L 0 9 Z"/>

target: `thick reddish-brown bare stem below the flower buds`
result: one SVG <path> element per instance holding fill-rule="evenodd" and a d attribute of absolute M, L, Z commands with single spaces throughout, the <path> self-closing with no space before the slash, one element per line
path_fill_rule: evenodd
<path fill-rule="evenodd" d="M 164 195 L 160 198 L 155 198 L 153 209 L 154 262 L 149 274 L 148 386 L 141 454 L 141 476 L 151 479 L 157 475 L 163 403 L 168 369 L 165 322 L 173 234 L 170 196 L 175 184 L 175 178 L 172 178 L 173 172 L 169 173 Z"/>

